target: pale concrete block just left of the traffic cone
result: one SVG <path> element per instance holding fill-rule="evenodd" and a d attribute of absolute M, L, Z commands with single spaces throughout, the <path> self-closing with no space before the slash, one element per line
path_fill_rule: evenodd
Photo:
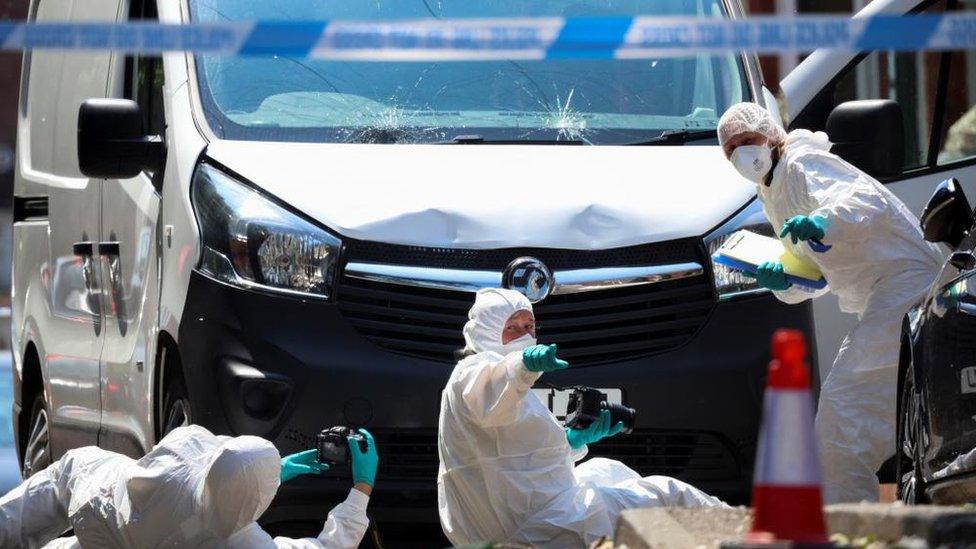
<path fill-rule="evenodd" d="M 617 522 L 618 549 L 675 549 L 718 547 L 741 540 L 751 517 L 745 507 L 632 509 Z"/>

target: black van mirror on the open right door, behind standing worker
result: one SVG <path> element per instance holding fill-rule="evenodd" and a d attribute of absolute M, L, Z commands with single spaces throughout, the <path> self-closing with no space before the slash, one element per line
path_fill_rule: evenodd
<path fill-rule="evenodd" d="M 901 106 L 890 99 L 862 99 L 837 105 L 827 117 L 834 154 L 875 177 L 901 173 L 905 128 Z"/>

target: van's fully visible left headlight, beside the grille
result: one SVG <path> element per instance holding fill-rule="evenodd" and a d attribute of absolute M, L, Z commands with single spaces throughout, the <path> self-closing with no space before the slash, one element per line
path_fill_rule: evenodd
<path fill-rule="evenodd" d="M 217 168 L 191 187 L 200 271 L 249 289 L 328 298 L 342 242 Z"/>

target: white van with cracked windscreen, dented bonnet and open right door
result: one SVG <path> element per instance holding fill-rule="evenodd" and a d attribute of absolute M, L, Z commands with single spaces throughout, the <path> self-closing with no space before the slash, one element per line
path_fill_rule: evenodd
<path fill-rule="evenodd" d="M 875 0 L 865 11 L 945 5 Z M 30 6 L 36 21 L 166 23 L 637 13 L 742 8 Z M 830 129 L 917 210 L 936 180 L 976 185 L 976 152 L 941 145 L 974 104 L 972 53 L 817 52 L 783 82 L 785 105 L 793 126 Z M 558 408 L 561 387 L 585 384 L 638 410 L 633 434 L 593 454 L 748 498 L 769 336 L 814 335 L 809 304 L 783 305 L 710 261 L 732 231 L 771 230 L 714 132 L 739 101 L 779 112 L 754 57 L 359 63 L 38 50 L 24 61 L 12 325 L 25 475 L 82 445 L 138 456 L 188 422 L 261 435 L 282 453 L 310 447 L 320 429 L 362 425 L 382 455 L 375 517 L 436 521 L 439 393 L 473 291 L 505 285 L 537 301 L 540 339 L 573 366 L 547 376 L 555 388 L 540 396 Z M 883 131 L 902 115 L 903 132 Z M 871 154 L 902 148 L 903 160 Z M 841 320 L 829 301 L 816 308 L 829 363 Z M 347 489 L 341 475 L 289 483 L 265 520 L 320 519 Z"/>

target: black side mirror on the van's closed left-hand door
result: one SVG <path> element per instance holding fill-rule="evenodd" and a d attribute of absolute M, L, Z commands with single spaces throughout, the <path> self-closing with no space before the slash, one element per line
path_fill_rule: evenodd
<path fill-rule="evenodd" d="M 139 104 L 129 99 L 88 99 L 78 109 L 78 167 L 98 179 L 126 179 L 157 172 L 163 140 L 146 135 Z"/>

